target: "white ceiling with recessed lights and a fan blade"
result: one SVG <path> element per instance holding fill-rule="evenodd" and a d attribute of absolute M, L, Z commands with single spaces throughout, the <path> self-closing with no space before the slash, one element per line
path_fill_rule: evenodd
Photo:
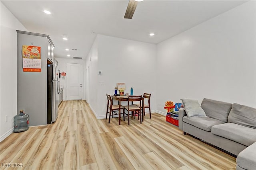
<path fill-rule="evenodd" d="M 28 31 L 50 36 L 55 57 L 85 59 L 97 34 L 156 44 L 246 1 L 144 0 L 138 2 L 132 19 L 124 19 L 129 0 L 1 2 Z M 154 37 L 148 35 L 151 32 Z M 62 39 L 63 35 L 68 41 Z"/>

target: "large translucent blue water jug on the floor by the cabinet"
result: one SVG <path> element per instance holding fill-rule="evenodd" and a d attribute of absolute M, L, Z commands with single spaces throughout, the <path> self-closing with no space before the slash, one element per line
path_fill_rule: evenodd
<path fill-rule="evenodd" d="M 14 132 L 23 132 L 28 130 L 28 114 L 25 114 L 23 110 L 20 114 L 14 116 Z"/>

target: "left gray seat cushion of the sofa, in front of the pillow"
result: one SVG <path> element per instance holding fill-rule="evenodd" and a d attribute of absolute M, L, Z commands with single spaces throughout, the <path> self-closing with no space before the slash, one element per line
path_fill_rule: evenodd
<path fill-rule="evenodd" d="M 190 118 L 188 118 L 188 116 L 184 116 L 183 121 L 190 125 L 198 127 L 199 129 L 208 131 L 208 132 L 211 131 L 212 126 L 224 123 L 222 121 L 219 121 L 217 119 L 213 119 L 210 117 L 190 117 Z"/>

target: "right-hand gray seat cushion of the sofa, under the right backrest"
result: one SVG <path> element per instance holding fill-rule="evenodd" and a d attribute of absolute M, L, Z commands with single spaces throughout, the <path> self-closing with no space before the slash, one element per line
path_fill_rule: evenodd
<path fill-rule="evenodd" d="M 212 127 L 212 133 L 247 147 L 256 141 L 256 129 L 238 125 L 236 123 L 215 125 Z"/>

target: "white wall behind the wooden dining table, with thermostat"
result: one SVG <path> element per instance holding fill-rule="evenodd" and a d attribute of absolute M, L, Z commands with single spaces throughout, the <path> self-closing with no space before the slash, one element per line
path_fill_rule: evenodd
<path fill-rule="evenodd" d="M 94 79 L 94 86 L 98 88 L 94 93 L 97 94 L 97 105 L 94 106 L 97 117 L 106 116 L 106 93 L 114 94 L 118 82 L 126 83 L 125 93 L 130 93 L 131 87 L 134 94 L 151 93 L 150 104 L 152 110 L 156 109 L 156 45 L 105 35 L 98 35 L 97 42 L 98 67 L 93 75 L 97 77 Z M 98 74 L 99 70 L 102 71 L 101 75 Z"/>

